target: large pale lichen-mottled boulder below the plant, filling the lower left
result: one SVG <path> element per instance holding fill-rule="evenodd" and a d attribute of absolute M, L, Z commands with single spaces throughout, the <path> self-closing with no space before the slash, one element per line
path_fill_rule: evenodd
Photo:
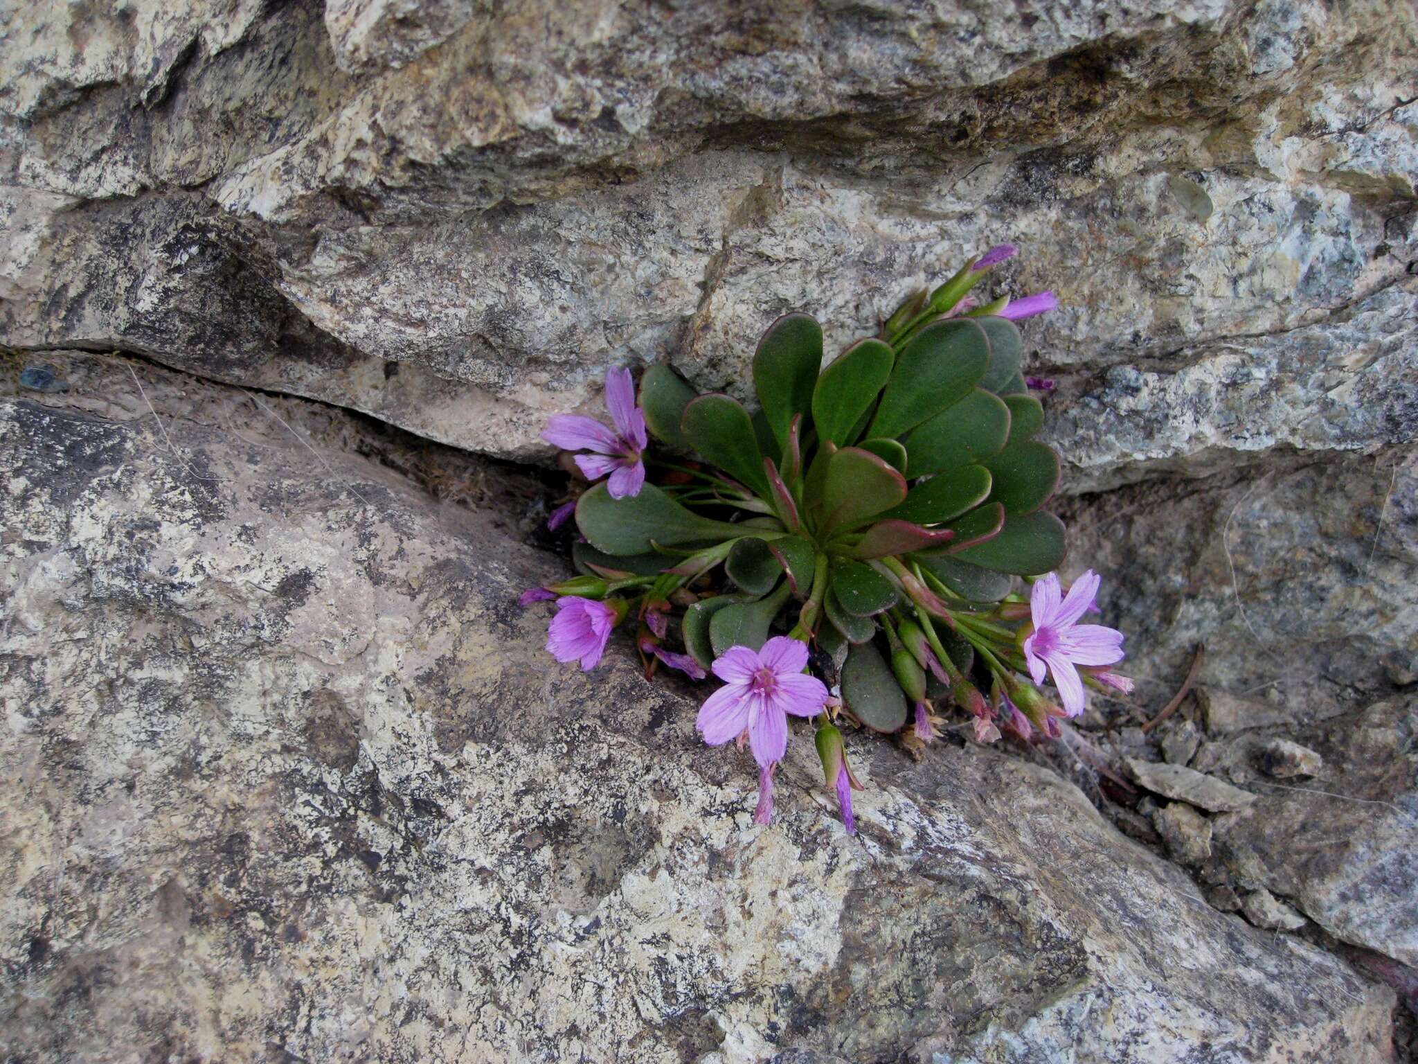
<path fill-rule="evenodd" d="M 685 688 L 547 667 L 499 506 L 339 414 L 55 369 L 0 403 L 7 1055 L 1390 1058 L 1390 989 L 1054 773 L 854 739 L 849 840 L 798 735 L 754 827 Z"/>

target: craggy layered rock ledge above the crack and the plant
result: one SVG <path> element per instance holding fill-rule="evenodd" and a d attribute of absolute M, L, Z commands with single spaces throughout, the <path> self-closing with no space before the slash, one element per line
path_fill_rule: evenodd
<path fill-rule="evenodd" d="M 119 346 L 545 455 L 604 366 L 742 387 L 1025 254 L 1072 487 L 1414 438 L 1418 14 L 10 3 L 0 342 Z"/>

